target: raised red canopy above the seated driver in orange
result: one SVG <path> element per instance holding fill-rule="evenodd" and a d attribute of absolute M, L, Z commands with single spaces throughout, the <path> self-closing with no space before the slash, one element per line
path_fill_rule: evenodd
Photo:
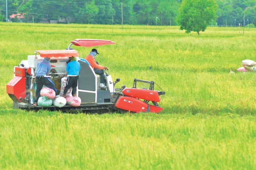
<path fill-rule="evenodd" d="M 74 45 L 82 47 L 95 47 L 99 45 L 109 45 L 115 44 L 115 42 L 110 40 L 94 40 L 94 39 L 76 39 L 71 41 Z"/>

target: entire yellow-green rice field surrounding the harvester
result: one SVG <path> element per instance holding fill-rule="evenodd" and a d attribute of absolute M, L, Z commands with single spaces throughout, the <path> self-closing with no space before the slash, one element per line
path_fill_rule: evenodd
<path fill-rule="evenodd" d="M 97 61 L 116 86 L 134 78 L 166 91 L 161 114 L 62 114 L 12 108 L 6 84 L 35 49 L 77 38 L 107 39 Z M 256 29 L 47 25 L 0 22 L 0 169 L 254 169 Z M 75 47 L 84 58 L 90 48 Z M 152 66 L 152 69 L 149 67 Z"/>

